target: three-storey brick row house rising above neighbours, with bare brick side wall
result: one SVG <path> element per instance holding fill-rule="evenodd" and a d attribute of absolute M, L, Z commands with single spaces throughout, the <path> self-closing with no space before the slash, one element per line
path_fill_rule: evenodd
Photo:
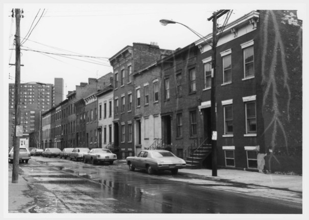
<path fill-rule="evenodd" d="M 114 147 L 123 158 L 141 149 L 140 116 L 135 114 L 140 90 L 132 74 L 170 52 L 155 44 L 133 43 L 109 59 L 114 72 Z"/>

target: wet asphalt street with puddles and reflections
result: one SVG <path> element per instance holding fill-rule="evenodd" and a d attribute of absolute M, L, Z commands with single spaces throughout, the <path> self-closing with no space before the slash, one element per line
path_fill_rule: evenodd
<path fill-rule="evenodd" d="M 12 166 L 12 164 L 9 164 Z M 33 199 L 31 213 L 301 213 L 301 204 L 248 196 L 216 181 L 189 181 L 184 174 L 131 172 L 124 162 L 94 165 L 32 157 L 20 163 Z M 218 186 L 218 187 L 217 187 Z M 226 187 L 226 189 L 225 189 Z M 235 186 L 234 186 L 235 187 Z M 254 190 L 253 190 L 254 191 Z M 254 192 L 253 192 L 254 193 Z"/>

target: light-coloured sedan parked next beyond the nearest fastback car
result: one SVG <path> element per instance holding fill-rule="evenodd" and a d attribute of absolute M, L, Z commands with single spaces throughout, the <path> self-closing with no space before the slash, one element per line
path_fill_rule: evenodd
<path fill-rule="evenodd" d="M 94 148 L 91 149 L 87 154 L 84 154 L 84 162 L 91 161 L 92 164 L 97 162 L 109 162 L 113 164 L 114 160 L 117 159 L 117 155 L 113 154 L 109 149 Z"/>

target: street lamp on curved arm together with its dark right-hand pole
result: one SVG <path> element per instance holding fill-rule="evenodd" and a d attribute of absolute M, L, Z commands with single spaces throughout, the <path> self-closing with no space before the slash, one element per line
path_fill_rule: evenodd
<path fill-rule="evenodd" d="M 212 45 L 207 42 L 208 39 L 203 37 L 201 34 L 194 31 L 192 28 L 189 28 L 187 25 L 183 23 L 179 23 L 173 20 L 162 19 L 160 23 L 162 25 L 179 23 L 185 26 L 187 29 L 192 31 L 195 35 L 197 35 L 200 39 L 202 39 L 205 43 L 211 46 L 211 90 L 210 90 L 210 114 L 211 114 L 211 162 L 212 162 L 212 176 L 217 176 L 217 116 L 216 116 L 216 47 L 217 47 L 217 18 L 221 17 L 229 10 L 219 10 L 218 12 L 213 12 L 212 16 L 208 18 L 208 20 L 212 19 Z"/>

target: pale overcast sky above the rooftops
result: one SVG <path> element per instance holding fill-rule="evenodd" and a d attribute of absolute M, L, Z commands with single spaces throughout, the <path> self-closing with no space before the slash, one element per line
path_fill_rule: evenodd
<path fill-rule="evenodd" d="M 276 7 L 266 4 L 223 5 L 204 2 L 4 4 L 4 79 L 10 83 L 15 82 L 15 68 L 8 65 L 15 63 L 15 50 L 12 50 L 16 25 L 15 18 L 11 17 L 13 8 L 23 9 L 20 21 L 21 64 L 24 65 L 20 73 L 21 83 L 37 81 L 54 84 L 54 78 L 61 77 L 64 79 L 66 95 L 68 91 L 76 90 L 80 82 L 88 82 L 88 78 L 99 78 L 111 72 L 108 59 L 134 42 L 155 42 L 162 49 L 175 50 L 199 39 L 182 25 L 162 26 L 160 19 L 181 22 L 207 35 L 212 32 L 212 22 L 207 18 L 213 11 L 233 9 L 229 19 L 233 21 L 252 10 Z M 281 7 L 299 10 L 302 19 L 304 13 L 301 5 L 287 4 L 284 7 L 283 4 Z M 225 16 L 220 18 L 219 24 L 224 19 Z M 79 54 L 81 57 L 63 54 Z"/>

